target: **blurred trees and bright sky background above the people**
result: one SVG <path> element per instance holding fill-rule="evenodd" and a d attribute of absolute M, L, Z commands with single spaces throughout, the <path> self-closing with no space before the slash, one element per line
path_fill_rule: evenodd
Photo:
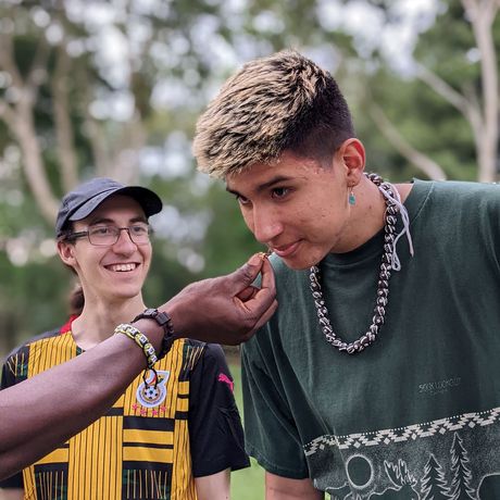
<path fill-rule="evenodd" d="M 328 68 L 368 170 L 497 180 L 499 3 L 0 0 L 0 354 L 65 320 L 52 227 L 86 178 L 164 200 L 150 304 L 261 249 L 190 153 L 197 116 L 249 59 L 297 48 Z"/>

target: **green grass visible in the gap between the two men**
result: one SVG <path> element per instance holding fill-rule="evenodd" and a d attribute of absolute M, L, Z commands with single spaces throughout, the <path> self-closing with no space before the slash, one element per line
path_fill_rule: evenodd
<path fill-rule="evenodd" d="M 241 371 L 239 364 L 230 363 L 235 379 L 235 398 L 242 416 Z M 264 500 L 264 470 L 251 459 L 251 467 L 236 471 L 230 475 L 230 498 L 233 500 Z"/>

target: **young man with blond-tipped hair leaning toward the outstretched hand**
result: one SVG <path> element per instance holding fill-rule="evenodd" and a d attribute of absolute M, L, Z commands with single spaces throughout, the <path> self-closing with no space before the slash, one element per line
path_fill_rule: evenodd
<path fill-rule="evenodd" d="M 295 51 L 230 77 L 193 151 L 273 251 L 278 310 L 242 347 L 267 500 L 500 498 L 500 187 L 365 174 Z"/>

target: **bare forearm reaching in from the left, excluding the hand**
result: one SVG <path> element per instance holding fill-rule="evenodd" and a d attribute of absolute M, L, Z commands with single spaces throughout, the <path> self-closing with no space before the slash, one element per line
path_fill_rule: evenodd
<path fill-rule="evenodd" d="M 160 347 L 160 327 L 148 320 L 136 325 Z M 145 367 L 136 343 L 115 335 L 67 363 L 0 391 L 0 479 L 99 418 Z"/>

